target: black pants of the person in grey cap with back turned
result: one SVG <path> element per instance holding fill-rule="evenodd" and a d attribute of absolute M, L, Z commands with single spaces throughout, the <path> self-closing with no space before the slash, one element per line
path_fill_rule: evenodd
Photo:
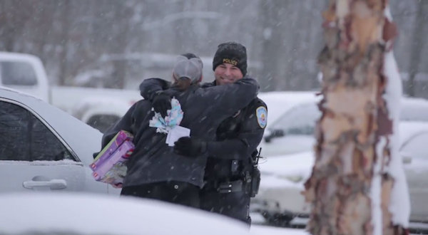
<path fill-rule="evenodd" d="M 123 187 L 121 196 L 158 199 L 188 207 L 199 208 L 199 187 L 186 182 L 156 182 Z"/>

